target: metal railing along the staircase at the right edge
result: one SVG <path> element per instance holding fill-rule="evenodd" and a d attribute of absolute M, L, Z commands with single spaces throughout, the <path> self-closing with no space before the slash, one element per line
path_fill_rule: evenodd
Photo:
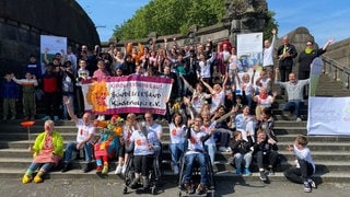
<path fill-rule="evenodd" d="M 323 56 L 322 59 L 324 61 L 323 72 L 328 74 L 334 81 L 340 81 L 343 90 L 350 90 L 350 68 L 327 56 Z"/>

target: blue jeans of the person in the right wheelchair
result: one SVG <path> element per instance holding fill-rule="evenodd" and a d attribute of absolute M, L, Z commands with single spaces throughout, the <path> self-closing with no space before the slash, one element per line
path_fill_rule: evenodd
<path fill-rule="evenodd" d="M 205 153 L 185 154 L 185 160 L 186 160 L 186 169 L 185 169 L 185 175 L 184 175 L 184 184 L 190 183 L 194 164 L 196 160 L 198 161 L 199 169 L 200 169 L 200 183 L 208 184 L 208 173 L 207 173 Z"/>

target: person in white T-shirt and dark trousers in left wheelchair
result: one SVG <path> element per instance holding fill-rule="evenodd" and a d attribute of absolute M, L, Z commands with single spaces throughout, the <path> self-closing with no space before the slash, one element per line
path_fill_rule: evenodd
<path fill-rule="evenodd" d="M 132 163 L 130 164 L 135 171 L 135 177 L 128 186 L 132 189 L 138 188 L 142 179 L 143 189 L 149 189 L 150 171 L 153 167 L 154 159 L 160 150 L 160 141 L 153 130 L 145 128 L 144 123 L 138 124 L 137 126 L 138 128 L 132 132 L 130 144 L 127 148 L 128 152 L 132 152 Z M 130 167 L 127 166 L 126 178 L 129 170 Z"/>

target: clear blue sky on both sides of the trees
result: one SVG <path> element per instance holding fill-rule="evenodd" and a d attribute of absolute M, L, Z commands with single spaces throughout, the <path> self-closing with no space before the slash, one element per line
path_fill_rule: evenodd
<path fill-rule="evenodd" d="M 77 0 L 94 22 L 102 42 L 107 42 L 116 25 L 132 18 L 150 0 Z M 336 42 L 350 37 L 349 0 L 267 0 L 276 13 L 278 36 L 304 26 L 323 46 L 328 38 Z"/>

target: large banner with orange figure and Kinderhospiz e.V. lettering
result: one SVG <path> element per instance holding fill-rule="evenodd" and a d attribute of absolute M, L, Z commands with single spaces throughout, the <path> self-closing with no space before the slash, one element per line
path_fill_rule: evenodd
<path fill-rule="evenodd" d="M 150 111 L 164 115 L 172 80 L 154 77 L 113 77 L 105 82 L 84 82 L 82 90 L 88 112 L 122 114 Z"/>

